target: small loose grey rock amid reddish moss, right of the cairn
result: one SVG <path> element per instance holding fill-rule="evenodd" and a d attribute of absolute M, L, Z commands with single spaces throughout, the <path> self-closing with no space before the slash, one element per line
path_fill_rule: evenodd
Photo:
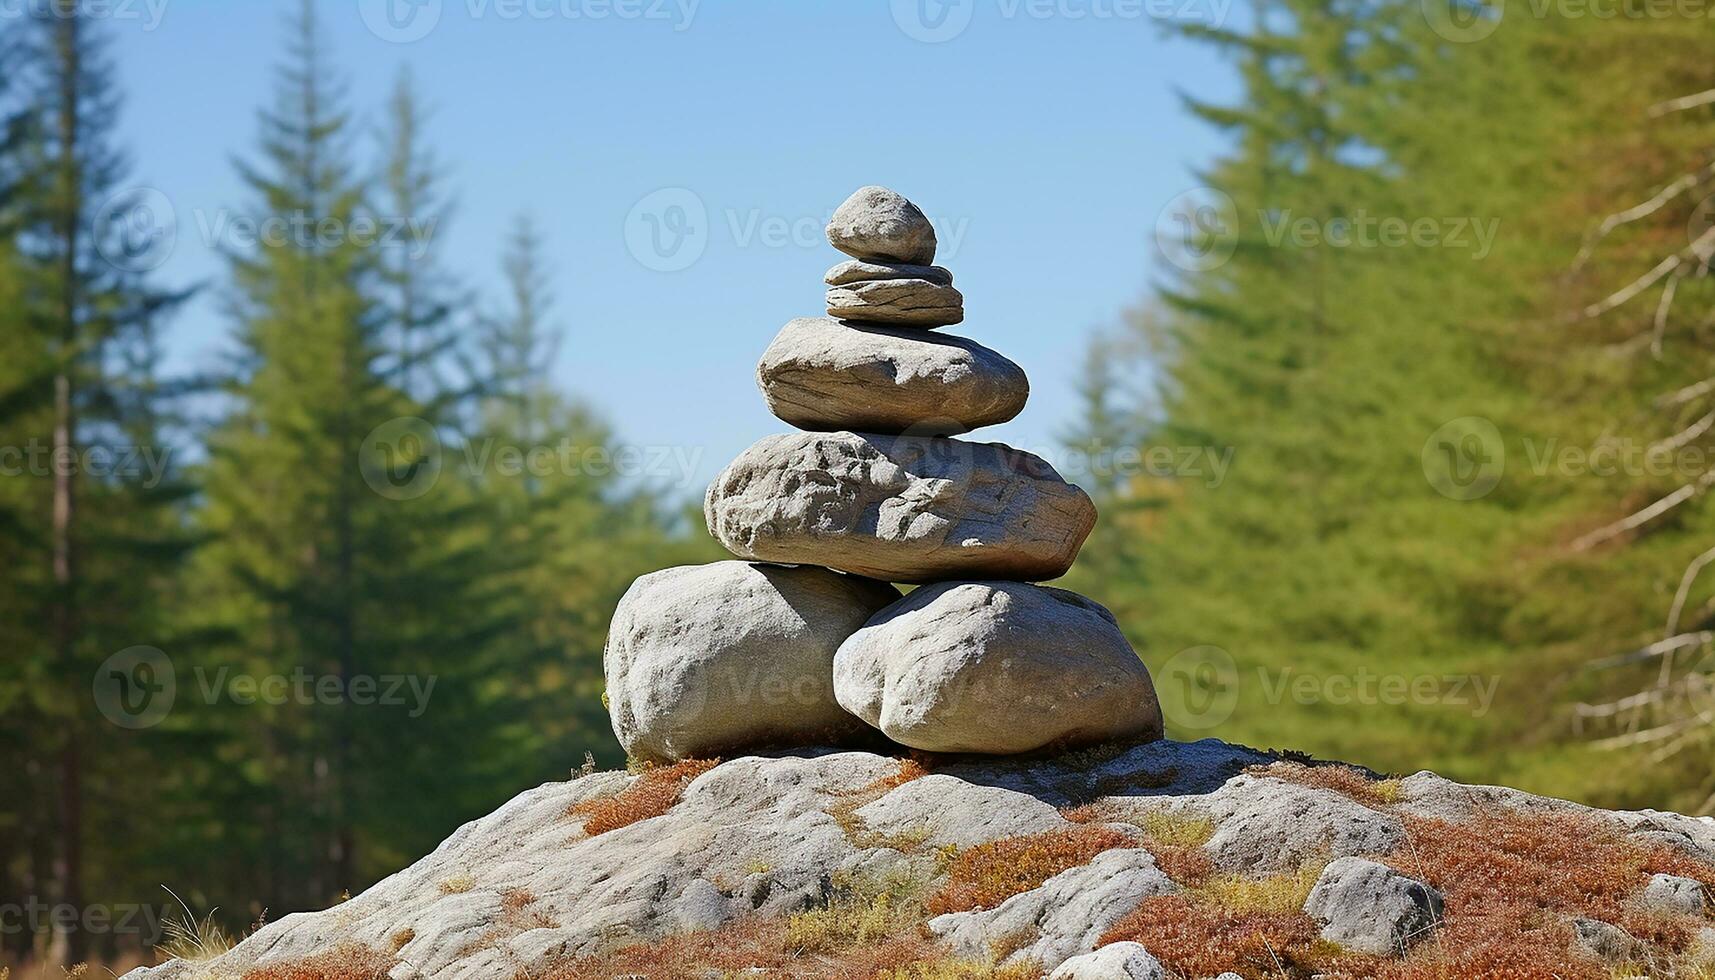
<path fill-rule="evenodd" d="M 1303 911 L 1322 939 L 1374 956 L 1398 956 L 1441 922 L 1442 896 L 1387 865 L 1338 858 L 1322 868 Z"/>

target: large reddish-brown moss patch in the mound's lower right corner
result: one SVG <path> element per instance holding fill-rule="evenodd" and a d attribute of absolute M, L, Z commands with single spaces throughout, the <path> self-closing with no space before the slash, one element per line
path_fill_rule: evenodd
<path fill-rule="evenodd" d="M 1607 980 L 1612 971 L 1571 953 L 1573 916 L 1619 925 L 1650 942 L 1662 963 L 1686 953 L 1701 918 L 1650 913 L 1631 899 L 1653 874 L 1715 884 L 1715 868 L 1638 841 L 1588 815 L 1489 814 L 1465 824 L 1406 819 L 1410 844 L 1389 858 L 1446 894 L 1435 939 L 1391 980 L 1437 977 Z"/>

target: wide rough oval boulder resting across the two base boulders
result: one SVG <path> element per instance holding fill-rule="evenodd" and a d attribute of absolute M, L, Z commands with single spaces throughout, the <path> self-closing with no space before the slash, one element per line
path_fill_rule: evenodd
<path fill-rule="evenodd" d="M 703 513 L 739 558 L 883 582 L 1058 578 L 1096 527 L 1089 496 L 1039 457 L 861 433 L 761 439 L 715 477 Z"/>

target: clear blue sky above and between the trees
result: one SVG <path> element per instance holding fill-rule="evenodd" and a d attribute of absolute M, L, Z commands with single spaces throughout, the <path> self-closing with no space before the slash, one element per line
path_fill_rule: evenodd
<path fill-rule="evenodd" d="M 204 228 L 247 204 L 233 160 L 254 154 L 295 0 L 113 2 L 134 182 L 158 189 L 178 221 L 161 275 L 218 283 Z M 842 256 L 820 227 L 863 184 L 890 185 L 936 220 L 940 263 L 966 295 L 952 331 L 1032 379 L 1024 415 L 981 434 L 1053 445 L 1077 414 L 1087 336 L 1146 295 L 1163 263 L 1163 208 L 1221 148 L 1175 91 L 1228 100 L 1231 72 L 1161 21 L 1221 17 L 1223 2 L 321 10 L 365 127 L 360 149 L 372 149 L 367 130 L 401 67 L 434 110 L 429 137 L 458 199 L 436 239 L 446 268 L 497 295 L 506 230 L 533 215 L 566 331 L 554 376 L 626 443 L 679 446 L 695 493 L 785 427 L 755 388 L 756 357 L 787 319 L 821 312 L 821 273 Z M 394 19 L 382 3 L 396 3 Z M 652 220 L 684 233 L 679 251 L 653 249 Z M 228 333 L 202 295 L 173 324 L 172 366 L 216 364 Z"/>

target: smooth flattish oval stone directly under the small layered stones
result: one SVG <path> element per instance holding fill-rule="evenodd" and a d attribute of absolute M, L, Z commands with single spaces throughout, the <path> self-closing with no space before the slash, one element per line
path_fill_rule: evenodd
<path fill-rule="evenodd" d="M 756 366 L 768 410 L 811 431 L 957 434 L 1024 410 L 1012 360 L 959 336 L 799 318 Z"/>

